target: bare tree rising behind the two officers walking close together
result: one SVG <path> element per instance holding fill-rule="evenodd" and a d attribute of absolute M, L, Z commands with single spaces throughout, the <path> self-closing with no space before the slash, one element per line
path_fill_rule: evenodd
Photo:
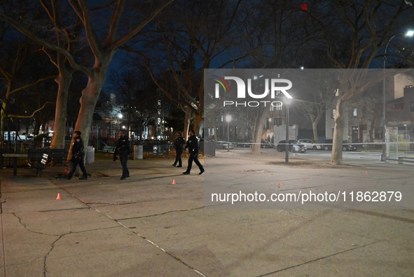
<path fill-rule="evenodd" d="M 204 120 L 203 69 L 213 62 L 214 67 L 226 67 L 246 55 L 236 53 L 229 41 L 240 24 L 237 16 L 245 16 L 241 4 L 242 0 L 176 1 L 154 23 L 158 32 L 146 39 L 146 52 L 127 49 L 145 59 L 154 82 L 184 108 L 184 133 L 191 115 L 196 132 Z"/>

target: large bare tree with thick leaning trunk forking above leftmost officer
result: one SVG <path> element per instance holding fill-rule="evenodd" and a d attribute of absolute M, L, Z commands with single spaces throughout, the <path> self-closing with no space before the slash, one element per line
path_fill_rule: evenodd
<path fill-rule="evenodd" d="M 152 5 L 148 4 L 148 8 L 151 9 L 146 15 L 136 15 L 139 18 L 143 19 L 139 22 L 132 21 L 129 30 L 118 30 L 118 25 L 120 24 L 120 19 L 123 18 L 123 11 L 125 11 L 125 0 L 118 1 L 102 1 L 100 4 L 102 7 L 106 8 L 106 12 L 94 13 L 97 11 L 97 8 L 91 8 L 90 4 L 86 0 L 69 0 L 71 7 L 75 11 L 78 18 L 81 20 L 83 28 L 85 30 L 85 39 L 92 51 L 93 56 L 93 65 L 88 68 L 85 65 L 79 64 L 72 55 L 69 53 L 67 48 L 57 45 L 57 43 L 50 43 L 43 39 L 31 29 L 28 29 L 24 22 L 19 20 L 16 17 L 6 15 L 5 11 L 0 12 L 1 20 L 5 20 L 13 25 L 20 32 L 29 36 L 31 39 L 40 43 L 50 50 L 55 50 L 65 58 L 67 58 L 69 64 L 74 69 L 84 72 L 88 76 L 88 84 L 82 91 L 82 96 L 80 99 L 81 109 L 78 113 L 78 120 L 76 121 L 76 130 L 82 132 L 83 140 L 88 142 L 90 126 L 92 124 L 92 115 L 99 97 L 99 93 L 102 90 L 106 79 L 106 72 L 109 67 L 109 64 L 113 58 L 113 54 L 116 53 L 116 50 L 123 44 L 130 41 L 133 36 L 135 36 L 148 22 L 153 20 L 160 11 L 170 4 L 173 0 L 166 0 L 161 2 L 152 9 Z M 127 11 L 130 12 L 130 11 Z M 111 18 L 109 19 L 109 27 L 104 32 L 100 29 L 103 23 L 106 22 L 104 17 L 107 14 L 111 13 Z M 103 20 L 103 21 L 102 21 Z M 69 156 L 71 155 L 69 151 Z"/>

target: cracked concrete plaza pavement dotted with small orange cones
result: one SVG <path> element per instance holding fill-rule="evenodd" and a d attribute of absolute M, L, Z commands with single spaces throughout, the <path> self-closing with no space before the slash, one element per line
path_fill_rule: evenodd
<path fill-rule="evenodd" d="M 205 174 L 193 165 L 189 176 L 172 159 L 130 161 L 125 181 L 110 158 L 87 165 L 88 180 L 60 179 L 62 167 L 46 168 L 41 178 L 36 170 L 20 168 L 17 177 L 0 170 L 0 276 L 413 275 L 411 209 L 203 208 L 209 185 L 228 191 L 378 185 L 404 187 L 412 199 L 412 166 L 272 165 L 276 153 L 247 153 L 218 151 L 201 159 Z"/>

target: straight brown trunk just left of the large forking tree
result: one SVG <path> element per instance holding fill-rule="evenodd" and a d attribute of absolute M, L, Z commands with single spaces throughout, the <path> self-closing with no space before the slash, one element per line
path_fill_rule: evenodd
<path fill-rule="evenodd" d="M 55 125 L 53 128 L 53 137 L 50 148 L 63 149 L 64 136 L 66 135 L 67 98 L 72 76 L 69 72 L 61 70 L 55 81 L 58 83 L 59 88 L 57 90 Z"/>

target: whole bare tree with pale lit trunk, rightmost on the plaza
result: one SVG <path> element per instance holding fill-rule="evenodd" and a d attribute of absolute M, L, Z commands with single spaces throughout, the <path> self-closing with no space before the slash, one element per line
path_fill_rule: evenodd
<path fill-rule="evenodd" d="M 338 86 L 332 165 L 343 163 L 342 144 L 345 103 L 381 81 L 366 81 L 366 70 L 389 39 L 414 22 L 410 1 L 315 1 L 308 11 L 316 23 L 317 41 L 336 67 L 343 70 Z"/>

